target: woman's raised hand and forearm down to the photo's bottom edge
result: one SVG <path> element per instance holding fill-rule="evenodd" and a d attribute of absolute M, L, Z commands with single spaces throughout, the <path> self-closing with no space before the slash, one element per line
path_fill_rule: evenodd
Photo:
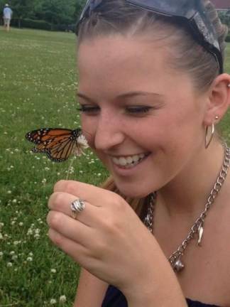
<path fill-rule="evenodd" d="M 85 208 L 75 220 L 70 205 L 77 198 Z M 128 306 L 187 306 L 155 238 L 119 195 L 59 181 L 48 206 L 50 239 L 91 274 L 118 287 Z"/>

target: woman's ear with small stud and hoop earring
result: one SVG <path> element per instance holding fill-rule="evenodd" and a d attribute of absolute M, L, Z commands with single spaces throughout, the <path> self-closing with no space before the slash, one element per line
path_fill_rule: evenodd
<path fill-rule="evenodd" d="M 219 121 L 230 106 L 230 75 L 224 73 L 215 78 L 209 89 L 207 108 L 204 114 L 204 126 Z M 219 119 L 215 119 L 219 117 Z"/>

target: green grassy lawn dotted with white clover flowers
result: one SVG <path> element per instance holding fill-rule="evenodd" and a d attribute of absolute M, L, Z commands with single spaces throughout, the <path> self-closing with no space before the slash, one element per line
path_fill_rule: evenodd
<path fill-rule="evenodd" d="M 40 127 L 80 125 L 75 39 L 0 27 L 0 307 L 72 306 L 75 296 L 79 267 L 47 237 L 47 200 L 62 178 L 99 185 L 107 173 L 90 150 L 78 162 L 53 163 L 31 154 L 24 138 Z M 221 123 L 228 140 L 229 123 L 230 113 Z"/>

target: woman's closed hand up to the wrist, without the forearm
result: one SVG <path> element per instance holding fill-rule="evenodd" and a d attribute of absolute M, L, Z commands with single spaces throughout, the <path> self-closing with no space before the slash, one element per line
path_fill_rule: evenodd
<path fill-rule="evenodd" d="M 70 204 L 85 208 L 71 217 Z M 146 279 L 146 256 L 155 239 L 133 209 L 116 193 L 77 181 L 59 181 L 48 202 L 50 239 L 87 271 L 119 286 Z M 148 259 L 152 262 L 152 259 Z"/>

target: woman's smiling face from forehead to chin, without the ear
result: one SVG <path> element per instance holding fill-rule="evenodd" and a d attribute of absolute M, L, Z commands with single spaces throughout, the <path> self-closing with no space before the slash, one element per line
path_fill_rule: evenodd
<path fill-rule="evenodd" d="M 86 40 L 78 51 L 82 129 L 121 193 L 143 197 L 192 167 L 204 146 L 204 98 L 159 42 Z"/>

